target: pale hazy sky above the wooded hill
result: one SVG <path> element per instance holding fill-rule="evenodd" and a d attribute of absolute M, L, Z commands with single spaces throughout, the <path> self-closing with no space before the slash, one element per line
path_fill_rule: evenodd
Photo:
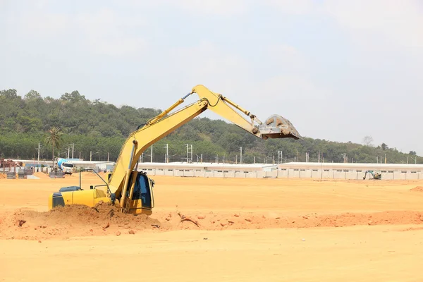
<path fill-rule="evenodd" d="M 0 90 L 165 109 L 204 85 L 305 137 L 423 155 L 423 1 L 0 0 L 0 38 Z"/>

